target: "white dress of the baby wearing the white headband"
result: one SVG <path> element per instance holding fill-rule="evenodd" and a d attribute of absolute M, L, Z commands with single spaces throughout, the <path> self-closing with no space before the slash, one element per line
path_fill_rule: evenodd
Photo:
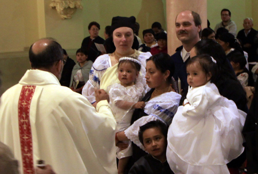
<path fill-rule="evenodd" d="M 142 99 L 145 93 L 143 84 L 137 82 L 135 85 L 125 87 L 120 83 L 115 83 L 110 85 L 107 90 L 109 91 L 111 108 L 117 122 L 117 132 L 122 132 L 130 126 L 134 109 L 130 108 L 129 110 L 123 110 L 116 106 L 116 102 L 121 100 L 137 103 Z M 124 150 L 120 150 L 119 147 L 116 147 L 118 159 L 132 156 L 131 141 L 126 141 L 126 143 L 128 143 L 129 146 Z"/>

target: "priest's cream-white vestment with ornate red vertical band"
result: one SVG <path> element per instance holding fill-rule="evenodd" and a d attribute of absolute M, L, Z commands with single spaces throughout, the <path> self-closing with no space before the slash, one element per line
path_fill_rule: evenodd
<path fill-rule="evenodd" d="M 95 110 L 46 71 L 28 70 L 1 97 L 0 141 L 20 173 L 35 173 L 39 159 L 60 174 L 117 173 L 115 129 L 106 100 Z"/>

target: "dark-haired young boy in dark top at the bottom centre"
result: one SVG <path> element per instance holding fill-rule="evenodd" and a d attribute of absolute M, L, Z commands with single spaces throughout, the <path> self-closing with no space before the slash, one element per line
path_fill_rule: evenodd
<path fill-rule="evenodd" d="M 140 126 L 139 140 L 148 155 L 141 157 L 132 166 L 129 174 L 174 174 L 166 161 L 167 129 L 167 124 L 159 120 Z"/>

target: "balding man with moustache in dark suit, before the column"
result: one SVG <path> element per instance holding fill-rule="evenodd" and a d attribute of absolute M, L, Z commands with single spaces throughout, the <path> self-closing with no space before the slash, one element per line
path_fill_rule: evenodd
<path fill-rule="evenodd" d="M 200 40 L 201 24 L 200 15 L 189 10 L 180 12 L 176 18 L 176 34 L 182 42 L 182 46 L 176 49 L 176 53 L 171 58 L 173 58 L 176 67 L 174 78 L 175 80 L 180 78 L 183 91 L 188 88 L 186 62 L 189 59 L 191 49 Z"/>

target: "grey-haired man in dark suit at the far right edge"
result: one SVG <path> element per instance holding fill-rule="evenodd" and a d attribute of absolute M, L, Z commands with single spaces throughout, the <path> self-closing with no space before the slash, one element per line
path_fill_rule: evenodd
<path fill-rule="evenodd" d="M 248 53 L 248 62 L 257 61 L 257 44 L 254 44 L 254 36 L 257 33 L 253 27 L 253 19 L 252 18 L 245 18 L 243 23 L 244 29 L 238 32 L 238 38 L 241 42 L 241 46 L 243 51 Z"/>

